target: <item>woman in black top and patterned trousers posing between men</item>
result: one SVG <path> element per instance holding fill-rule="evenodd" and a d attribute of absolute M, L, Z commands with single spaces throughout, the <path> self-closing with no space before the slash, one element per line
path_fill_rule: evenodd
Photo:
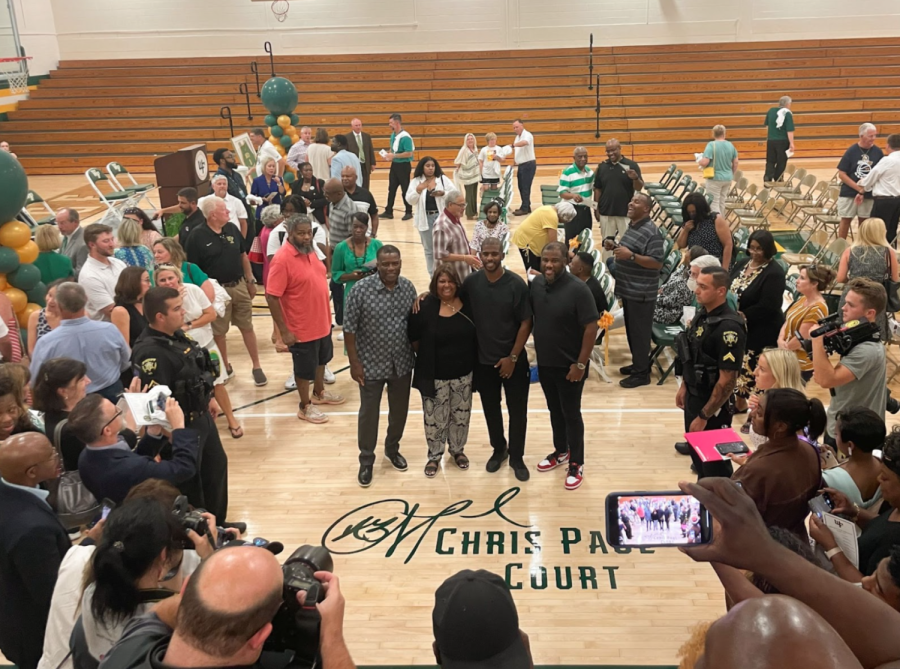
<path fill-rule="evenodd" d="M 437 474 L 448 443 L 456 466 L 469 468 L 463 449 L 472 413 L 475 324 L 458 292 L 456 271 L 444 263 L 435 271 L 418 313 L 409 317 L 409 341 L 416 351 L 413 387 L 422 393 L 429 478 Z"/>

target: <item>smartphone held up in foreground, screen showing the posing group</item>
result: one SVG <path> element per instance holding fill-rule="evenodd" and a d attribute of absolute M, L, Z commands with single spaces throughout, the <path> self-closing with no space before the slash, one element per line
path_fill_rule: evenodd
<path fill-rule="evenodd" d="M 614 492 L 606 497 L 606 541 L 612 546 L 696 546 L 710 539 L 709 512 L 683 492 Z"/>

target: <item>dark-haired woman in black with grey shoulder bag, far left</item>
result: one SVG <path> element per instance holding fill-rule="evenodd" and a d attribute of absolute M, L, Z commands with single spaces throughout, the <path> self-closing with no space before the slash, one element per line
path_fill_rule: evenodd
<path fill-rule="evenodd" d="M 80 360 L 52 358 L 38 371 L 32 389 L 34 408 L 44 412 L 44 431 L 50 443 L 59 449 L 66 470 L 78 469 L 78 456 L 84 442 L 68 429 L 64 421 L 69 412 L 84 399 L 91 380 Z M 57 426 L 63 423 L 57 434 Z"/>

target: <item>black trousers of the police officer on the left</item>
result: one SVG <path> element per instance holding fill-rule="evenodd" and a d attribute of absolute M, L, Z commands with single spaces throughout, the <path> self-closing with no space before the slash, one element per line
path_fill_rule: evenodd
<path fill-rule="evenodd" d="M 197 474 L 182 484 L 181 492 L 191 505 L 206 509 L 221 525 L 228 513 L 228 455 L 219 438 L 219 430 L 208 411 L 195 418 L 185 416 L 185 427 L 200 433 Z"/>

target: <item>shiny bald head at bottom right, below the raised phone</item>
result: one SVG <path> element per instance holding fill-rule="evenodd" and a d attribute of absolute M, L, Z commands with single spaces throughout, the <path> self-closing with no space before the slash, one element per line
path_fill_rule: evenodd
<path fill-rule="evenodd" d="M 847 644 L 806 604 L 783 595 L 748 599 L 709 628 L 696 669 L 861 669 Z"/>

